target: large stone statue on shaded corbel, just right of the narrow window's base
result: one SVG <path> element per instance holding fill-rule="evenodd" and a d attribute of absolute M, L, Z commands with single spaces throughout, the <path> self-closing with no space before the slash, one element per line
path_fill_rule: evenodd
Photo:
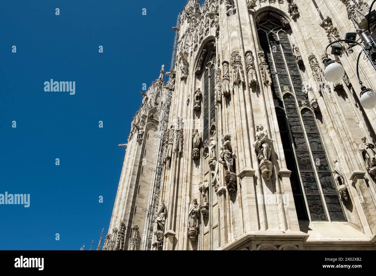
<path fill-rule="evenodd" d="M 222 135 L 221 155 L 218 162 L 223 164 L 226 168 L 224 180 L 229 192 L 235 192 L 235 184 L 237 182 L 237 175 L 234 173 L 233 160 L 235 153 L 232 151 L 230 134 Z"/>

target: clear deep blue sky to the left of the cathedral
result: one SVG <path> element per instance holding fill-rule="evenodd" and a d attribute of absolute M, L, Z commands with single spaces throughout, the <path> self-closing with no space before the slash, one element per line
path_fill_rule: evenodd
<path fill-rule="evenodd" d="M 0 193 L 30 194 L 30 207 L 0 205 L 0 250 L 89 249 L 93 239 L 96 248 L 107 234 L 124 157 L 117 145 L 142 84 L 170 68 L 185 3 L 2 2 Z M 76 81 L 76 94 L 44 92 L 51 78 Z"/>

